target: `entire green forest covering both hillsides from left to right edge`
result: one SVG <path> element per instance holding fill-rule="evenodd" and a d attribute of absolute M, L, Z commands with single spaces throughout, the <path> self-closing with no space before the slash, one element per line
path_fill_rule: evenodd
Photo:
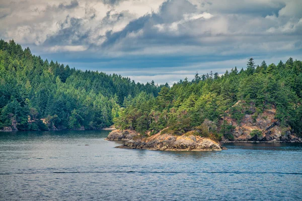
<path fill-rule="evenodd" d="M 279 131 L 302 134 L 302 64 L 289 58 L 223 75 L 210 72 L 172 87 L 141 84 L 103 72 L 43 61 L 13 40 L 0 41 L 0 129 L 100 129 L 111 126 L 151 135 L 165 130 L 228 137 L 259 117 Z M 247 116 L 250 115 L 250 116 Z M 258 131 L 255 131 L 257 133 Z"/>

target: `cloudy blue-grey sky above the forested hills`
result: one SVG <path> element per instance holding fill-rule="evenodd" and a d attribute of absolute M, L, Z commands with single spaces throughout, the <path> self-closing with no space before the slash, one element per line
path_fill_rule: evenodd
<path fill-rule="evenodd" d="M 0 38 L 77 69 L 170 85 L 302 60 L 301 0 L 0 0 Z"/>

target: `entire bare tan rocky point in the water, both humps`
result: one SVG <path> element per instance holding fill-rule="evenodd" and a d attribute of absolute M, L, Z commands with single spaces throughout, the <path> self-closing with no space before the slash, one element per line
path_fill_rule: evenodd
<path fill-rule="evenodd" d="M 217 142 L 209 138 L 186 133 L 181 136 L 158 133 L 153 136 L 143 137 L 135 131 L 112 131 L 106 140 L 126 141 L 117 148 L 148 149 L 161 151 L 221 151 Z"/>

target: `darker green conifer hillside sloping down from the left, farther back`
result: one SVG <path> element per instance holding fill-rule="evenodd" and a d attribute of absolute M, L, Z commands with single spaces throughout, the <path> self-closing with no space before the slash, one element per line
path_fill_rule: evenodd
<path fill-rule="evenodd" d="M 0 129 L 100 129 L 113 124 L 125 96 L 152 99 L 161 87 L 43 61 L 0 41 Z"/>

